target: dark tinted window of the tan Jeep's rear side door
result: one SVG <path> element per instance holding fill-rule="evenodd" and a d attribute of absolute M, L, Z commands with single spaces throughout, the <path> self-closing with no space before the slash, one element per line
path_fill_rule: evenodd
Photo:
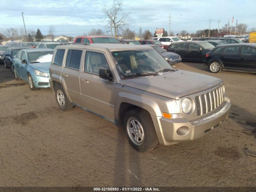
<path fill-rule="evenodd" d="M 79 70 L 82 50 L 68 50 L 66 67 Z"/>

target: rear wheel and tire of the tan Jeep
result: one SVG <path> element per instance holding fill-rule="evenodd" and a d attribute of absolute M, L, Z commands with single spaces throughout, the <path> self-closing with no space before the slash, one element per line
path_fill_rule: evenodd
<path fill-rule="evenodd" d="M 58 107 L 62 111 L 68 111 L 74 107 L 68 100 L 68 97 L 60 84 L 58 84 L 55 88 L 55 98 Z"/>

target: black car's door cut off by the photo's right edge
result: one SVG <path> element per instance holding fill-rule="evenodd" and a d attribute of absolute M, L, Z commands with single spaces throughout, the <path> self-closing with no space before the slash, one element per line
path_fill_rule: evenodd
<path fill-rule="evenodd" d="M 239 68 L 256 71 L 256 48 L 251 46 L 241 46 L 241 51 Z"/>

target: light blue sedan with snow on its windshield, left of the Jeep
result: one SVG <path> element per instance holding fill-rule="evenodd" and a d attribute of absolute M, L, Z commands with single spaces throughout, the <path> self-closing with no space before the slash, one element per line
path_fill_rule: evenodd
<path fill-rule="evenodd" d="M 26 81 L 31 90 L 50 87 L 49 67 L 52 54 L 51 49 L 20 50 L 13 60 L 15 79 Z"/>

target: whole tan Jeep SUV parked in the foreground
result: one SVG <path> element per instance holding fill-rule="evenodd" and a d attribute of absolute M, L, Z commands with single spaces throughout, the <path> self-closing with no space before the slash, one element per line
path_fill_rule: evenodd
<path fill-rule="evenodd" d="M 147 46 L 58 46 L 50 85 L 61 110 L 78 106 L 124 127 L 140 152 L 204 136 L 230 111 L 222 80 L 175 70 Z"/>

